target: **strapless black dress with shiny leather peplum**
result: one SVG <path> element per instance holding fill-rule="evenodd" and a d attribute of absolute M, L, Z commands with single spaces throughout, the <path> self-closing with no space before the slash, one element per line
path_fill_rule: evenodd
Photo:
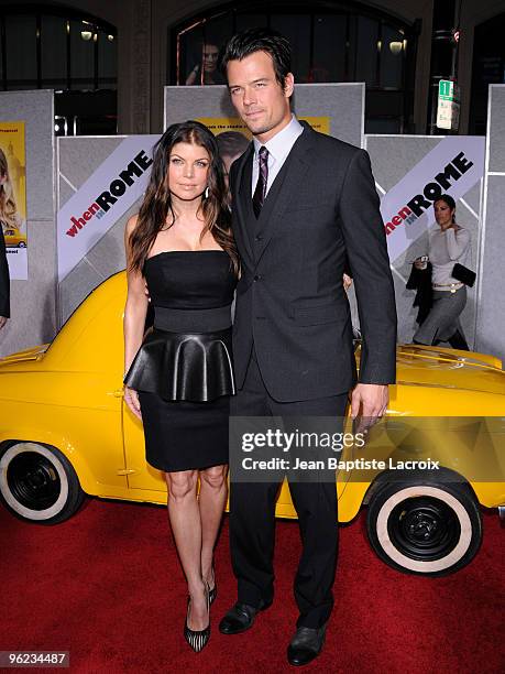
<path fill-rule="evenodd" d="M 139 392 L 147 463 L 169 472 L 228 464 L 237 284 L 230 257 L 162 252 L 147 258 L 144 276 L 154 327 L 124 383 Z"/>

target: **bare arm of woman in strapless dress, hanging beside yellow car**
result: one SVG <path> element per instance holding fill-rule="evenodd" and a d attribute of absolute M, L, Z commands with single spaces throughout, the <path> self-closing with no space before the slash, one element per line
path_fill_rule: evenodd
<path fill-rule="evenodd" d="M 130 369 L 133 359 L 142 345 L 144 337 L 145 316 L 147 314 L 149 300 L 145 295 L 144 278 L 138 271 L 130 270 L 131 250 L 130 237 L 135 229 L 138 216 L 131 217 L 124 230 L 124 248 L 127 251 L 127 280 L 128 295 L 124 306 L 124 372 Z M 141 418 L 140 403 L 136 392 L 125 387 L 124 401 L 130 410 Z"/>

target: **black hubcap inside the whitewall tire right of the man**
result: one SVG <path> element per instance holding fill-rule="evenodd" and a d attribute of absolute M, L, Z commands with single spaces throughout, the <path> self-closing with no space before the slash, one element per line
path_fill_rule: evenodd
<path fill-rule="evenodd" d="M 461 535 L 457 513 L 442 501 L 426 497 L 398 503 L 389 515 L 387 530 L 402 554 L 424 562 L 444 557 Z"/>

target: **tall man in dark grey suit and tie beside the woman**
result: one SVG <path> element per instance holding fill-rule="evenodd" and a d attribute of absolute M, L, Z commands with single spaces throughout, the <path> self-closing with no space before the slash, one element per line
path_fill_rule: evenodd
<path fill-rule="evenodd" d="M 290 47 L 277 33 L 252 29 L 235 35 L 222 68 L 231 100 L 253 134 L 230 173 L 242 259 L 231 414 L 342 417 L 353 389 L 352 415 L 378 418 L 387 407 L 387 384 L 395 381 L 396 311 L 369 155 L 292 115 Z M 342 285 L 347 261 L 363 335 L 358 383 Z M 278 481 L 231 477 L 238 602 L 221 620 L 226 634 L 249 629 L 272 602 L 278 491 Z M 295 578 L 299 618 L 287 657 L 303 665 L 321 651 L 333 606 L 337 490 L 334 480 L 290 481 L 289 490 L 303 553 Z"/>

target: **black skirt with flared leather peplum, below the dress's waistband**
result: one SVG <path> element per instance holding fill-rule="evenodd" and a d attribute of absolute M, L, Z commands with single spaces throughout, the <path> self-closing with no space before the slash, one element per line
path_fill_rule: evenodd
<path fill-rule="evenodd" d="M 231 328 L 154 328 L 124 383 L 139 393 L 151 466 L 173 472 L 228 464 L 229 396 L 235 392 Z"/>

